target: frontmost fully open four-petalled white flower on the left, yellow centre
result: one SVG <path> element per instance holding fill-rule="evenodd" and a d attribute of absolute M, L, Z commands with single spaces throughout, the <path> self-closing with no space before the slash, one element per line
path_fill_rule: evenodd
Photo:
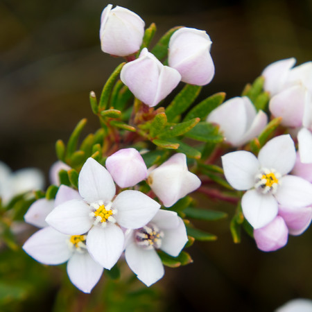
<path fill-rule="evenodd" d="M 46 217 L 46 222 L 63 234 L 87 233 L 89 254 L 110 269 L 123 252 L 121 227 L 137 229 L 146 225 L 160 205 L 139 191 L 122 191 L 114 198 L 112 176 L 92 158 L 80 171 L 78 189 L 83 200 L 63 202 Z"/>

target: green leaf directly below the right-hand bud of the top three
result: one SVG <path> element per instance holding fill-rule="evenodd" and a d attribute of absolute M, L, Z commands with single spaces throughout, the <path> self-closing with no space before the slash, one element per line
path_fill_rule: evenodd
<path fill-rule="evenodd" d="M 173 98 L 173 101 L 166 107 L 168 121 L 173 121 L 175 116 L 185 112 L 196 100 L 202 87 L 198 85 L 185 85 L 184 88 Z"/>

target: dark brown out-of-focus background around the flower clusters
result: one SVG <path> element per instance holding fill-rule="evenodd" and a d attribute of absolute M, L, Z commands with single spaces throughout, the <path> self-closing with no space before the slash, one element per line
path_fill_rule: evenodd
<path fill-rule="evenodd" d="M 301 64 L 312 57 L 309 0 L 110 3 L 137 12 L 146 26 L 154 21 L 156 39 L 177 25 L 207 31 L 216 76 L 202 90 L 202 98 L 220 91 L 227 98 L 238 96 L 271 62 L 295 57 Z M 57 139 L 66 141 L 83 117 L 88 119 L 85 134 L 98 128 L 89 92 L 99 94 L 121 62 L 100 48 L 100 16 L 107 4 L 98 0 L 0 1 L 0 160 L 13 170 L 35 166 L 47 174 L 56 160 Z M 234 211 L 234 207 L 205 201 L 229 215 Z M 247 235 L 234 245 L 228 225 L 229 218 L 209 228 L 207 223 L 202 225 L 217 234 L 218 241 L 196 243 L 189 250 L 193 264 L 166 270 L 156 286 L 162 293 L 159 309 L 273 311 L 294 297 L 312 298 L 312 229 L 291 237 L 286 248 L 264 253 Z M 80 297 L 82 302 L 89 300 L 88 295 Z M 43 300 L 44 311 L 51 310 L 53 293 L 48 299 Z M 42 311 L 36 302 L 28 308 Z M 71 311 L 85 310 L 83 304 L 76 304 Z"/>

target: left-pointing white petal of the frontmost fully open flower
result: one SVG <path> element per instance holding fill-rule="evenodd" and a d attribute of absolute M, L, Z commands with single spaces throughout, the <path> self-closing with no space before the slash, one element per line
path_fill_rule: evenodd
<path fill-rule="evenodd" d="M 89 213 L 89 205 L 83 200 L 69 200 L 55 207 L 46 217 L 46 222 L 61 233 L 80 235 L 92 227 L 94 220 Z"/>

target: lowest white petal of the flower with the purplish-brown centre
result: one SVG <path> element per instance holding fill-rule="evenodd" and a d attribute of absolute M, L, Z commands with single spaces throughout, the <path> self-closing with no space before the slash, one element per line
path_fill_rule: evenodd
<path fill-rule="evenodd" d="M 154 284 L 164 276 L 164 266 L 154 249 L 145 250 L 132 243 L 125 249 L 125 261 L 146 286 Z"/>

